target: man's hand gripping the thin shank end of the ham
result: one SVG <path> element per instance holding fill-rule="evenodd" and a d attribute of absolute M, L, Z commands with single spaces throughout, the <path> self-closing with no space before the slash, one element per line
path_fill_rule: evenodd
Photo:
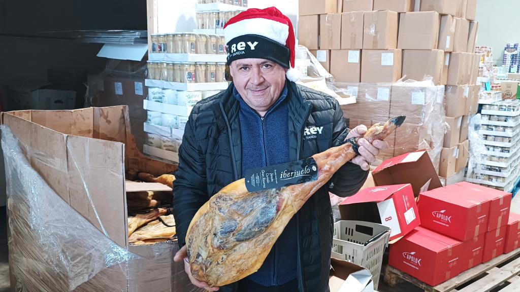
<path fill-rule="evenodd" d="M 367 126 L 359 125 L 350 130 L 346 139 L 362 137 L 366 132 Z M 351 162 L 359 165 L 363 170 L 369 170 L 370 164 L 375 161 L 375 156 L 379 154 L 379 151 L 386 150 L 388 148 L 388 143 L 382 140 L 375 140 L 372 144 L 370 144 L 369 141 L 361 138 L 358 140 L 358 144 L 359 155 L 354 157 Z"/>

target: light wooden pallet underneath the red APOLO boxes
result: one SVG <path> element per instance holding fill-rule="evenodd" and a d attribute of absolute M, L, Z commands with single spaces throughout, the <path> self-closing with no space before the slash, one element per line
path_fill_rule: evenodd
<path fill-rule="evenodd" d="M 509 262 L 508 262 L 509 261 Z M 498 268 L 500 264 L 505 263 Z M 488 292 L 505 283 L 510 283 L 505 286 L 500 292 L 520 291 L 520 249 L 514 250 L 509 254 L 501 255 L 486 263 L 463 272 L 462 274 L 451 278 L 450 280 L 432 287 L 423 283 L 416 278 L 401 272 L 393 267 L 387 266 L 385 273 L 385 283 L 389 286 L 395 286 L 398 281 L 395 280 L 394 274 L 397 278 L 401 278 L 406 282 L 424 289 L 425 292 Z M 475 278 L 480 277 L 475 282 L 463 288 L 458 288 Z M 391 281 L 387 282 L 389 279 Z"/>

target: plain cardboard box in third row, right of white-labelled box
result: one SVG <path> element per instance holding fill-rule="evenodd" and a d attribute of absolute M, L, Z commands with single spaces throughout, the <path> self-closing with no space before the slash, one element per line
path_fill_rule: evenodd
<path fill-rule="evenodd" d="M 423 79 L 425 78 L 433 78 L 433 84 L 444 84 L 442 81 L 444 64 L 445 62 L 443 50 L 403 50 L 403 81 L 406 81 L 408 79 L 412 79 L 415 81 L 423 81 Z"/>

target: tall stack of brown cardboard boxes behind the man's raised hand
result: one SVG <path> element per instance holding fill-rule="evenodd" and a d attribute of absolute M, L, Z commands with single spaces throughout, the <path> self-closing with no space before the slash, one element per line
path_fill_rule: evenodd
<path fill-rule="evenodd" d="M 475 11 L 474 0 L 300 0 L 299 40 L 355 88 L 356 103 L 342 107 L 350 128 L 407 115 L 381 161 L 428 149 L 449 178 L 466 166 L 477 109 Z"/>

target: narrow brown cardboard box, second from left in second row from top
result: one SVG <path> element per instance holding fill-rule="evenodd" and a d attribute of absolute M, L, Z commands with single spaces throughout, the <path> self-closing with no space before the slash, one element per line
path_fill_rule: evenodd
<path fill-rule="evenodd" d="M 320 50 L 341 49 L 341 14 L 320 15 Z"/>

